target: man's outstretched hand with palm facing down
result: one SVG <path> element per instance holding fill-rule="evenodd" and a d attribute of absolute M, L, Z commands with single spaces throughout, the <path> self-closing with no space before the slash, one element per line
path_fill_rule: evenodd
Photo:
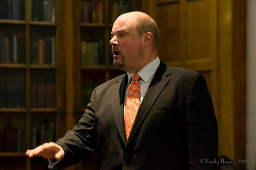
<path fill-rule="evenodd" d="M 34 156 L 41 156 L 46 159 L 56 159 L 57 161 L 63 159 L 64 150 L 56 143 L 44 143 L 40 146 L 37 146 L 35 149 L 27 150 L 26 155 L 30 158 Z"/>

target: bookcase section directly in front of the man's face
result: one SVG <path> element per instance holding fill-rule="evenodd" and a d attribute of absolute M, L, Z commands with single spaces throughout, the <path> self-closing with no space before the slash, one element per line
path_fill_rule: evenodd
<path fill-rule="evenodd" d="M 78 10 L 80 9 L 80 10 Z M 74 23 L 74 113 L 81 119 L 93 89 L 124 71 L 113 66 L 109 44 L 113 22 L 122 13 L 140 11 L 140 0 L 75 0 Z M 77 169 L 99 169 L 97 155 Z"/>

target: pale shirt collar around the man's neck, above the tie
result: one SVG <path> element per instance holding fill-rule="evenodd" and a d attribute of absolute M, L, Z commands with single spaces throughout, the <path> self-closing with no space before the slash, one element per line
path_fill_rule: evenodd
<path fill-rule="evenodd" d="M 145 67 L 143 67 L 141 70 L 139 70 L 139 72 L 137 73 L 141 79 L 147 83 L 148 80 L 156 73 L 156 70 L 158 69 L 158 66 L 160 65 L 160 59 L 159 57 L 156 57 L 156 59 L 154 59 L 152 62 L 150 62 L 149 64 L 147 64 Z M 130 80 L 132 78 L 132 76 L 134 75 L 134 73 L 128 73 L 128 80 L 130 83 Z"/>

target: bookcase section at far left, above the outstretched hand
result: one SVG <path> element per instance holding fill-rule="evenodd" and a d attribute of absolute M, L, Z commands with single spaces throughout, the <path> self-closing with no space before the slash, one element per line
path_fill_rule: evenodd
<path fill-rule="evenodd" d="M 0 0 L 0 169 L 47 169 L 26 149 L 65 129 L 61 0 Z"/>

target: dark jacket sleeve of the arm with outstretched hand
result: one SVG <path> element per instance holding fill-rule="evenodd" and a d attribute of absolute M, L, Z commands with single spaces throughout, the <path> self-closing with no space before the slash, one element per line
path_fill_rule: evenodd
<path fill-rule="evenodd" d="M 72 130 L 65 133 L 63 138 L 56 141 L 63 148 L 65 156 L 54 166 L 54 169 L 74 165 L 96 152 L 97 144 L 94 129 L 95 104 L 96 88 L 93 90 L 91 102 L 87 105 L 87 109 L 78 124 Z"/>

